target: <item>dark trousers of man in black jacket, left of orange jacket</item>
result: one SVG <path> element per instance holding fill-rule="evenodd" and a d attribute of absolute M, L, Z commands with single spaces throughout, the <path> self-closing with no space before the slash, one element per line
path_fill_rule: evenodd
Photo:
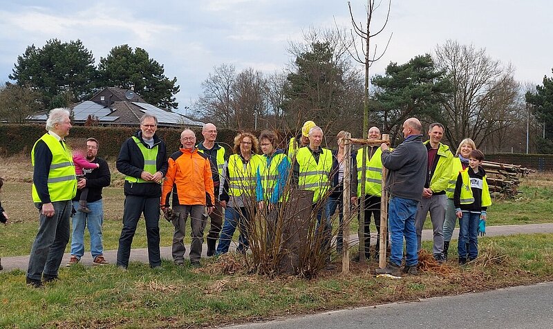
<path fill-rule="evenodd" d="M 126 196 L 123 211 L 123 229 L 119 238 L 117 265 L 129 266 L 131 244 L 140 215 L 146 220 L 146 238 L 148 240 L 148 261 L 151 267 L 161 265 L 160 256 L 160 198 Z"/>

